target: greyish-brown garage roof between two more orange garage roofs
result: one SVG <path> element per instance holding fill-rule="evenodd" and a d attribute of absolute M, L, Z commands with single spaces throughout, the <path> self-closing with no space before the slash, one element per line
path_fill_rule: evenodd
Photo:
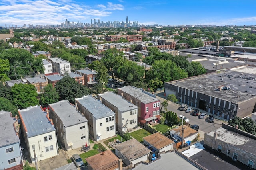
<path fill-rule="evenodd" d="M 114 145 L 114 147 L 129 161 L 140 158 L 151 152 L 151 150 L 134 138 Z"/>

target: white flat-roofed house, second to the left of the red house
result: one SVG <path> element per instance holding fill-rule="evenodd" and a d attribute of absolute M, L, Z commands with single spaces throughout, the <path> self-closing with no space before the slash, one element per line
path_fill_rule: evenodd
<path fill-rule="evenodd" d="M 89 134 L 96 140 L 116 135 L 115 113 L 92 96 L 75 98 L 78 110 L 88 120 Z"/>

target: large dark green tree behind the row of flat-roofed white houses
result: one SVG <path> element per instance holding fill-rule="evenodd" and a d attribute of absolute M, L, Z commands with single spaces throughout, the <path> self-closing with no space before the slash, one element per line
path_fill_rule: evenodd
<path fill-rule="evenodd" d="M 79 84 L 68 74 L 65 74 L 63 78 L 56 83 L 55 87 L 60 95 L 60 100 L 69 100 L 73 104 L 75 103 L 75 98 L 89 94 L 89 89 L 86 86 Z"/>

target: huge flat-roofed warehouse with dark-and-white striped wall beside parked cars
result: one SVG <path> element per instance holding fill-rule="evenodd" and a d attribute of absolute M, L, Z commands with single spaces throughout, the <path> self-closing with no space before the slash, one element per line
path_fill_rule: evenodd
<path fill-rule="evenodd" d="M 165 96 L 230 120 L 256 111 L 256 67 L 242 66 L 165 82 Z"/>

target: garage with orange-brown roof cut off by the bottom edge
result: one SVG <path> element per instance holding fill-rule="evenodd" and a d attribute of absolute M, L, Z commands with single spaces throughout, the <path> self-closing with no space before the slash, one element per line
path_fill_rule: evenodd
<path fill-rule="evenodd" d="M 111 150 L 90 156 L 85 160 L 88 163 L 88 170 L 118 170 L 119 161 L 122 164 L 122 160 L 118 159 Z"/>

